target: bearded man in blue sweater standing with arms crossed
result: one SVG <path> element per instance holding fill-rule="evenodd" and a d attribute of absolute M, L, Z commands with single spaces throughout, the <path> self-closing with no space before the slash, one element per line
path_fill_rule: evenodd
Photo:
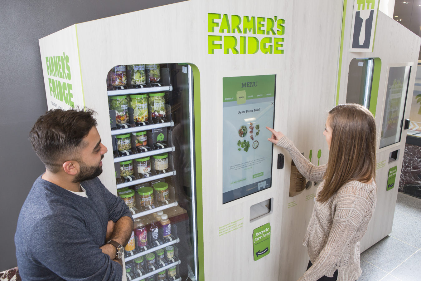
<path fill-rule="evenodd" d="M 133 219 L 97 178 L 107 148 L 92 110 L 50 110 L 29 140 L 45 165 L 19 214 L 22 280 L 121 280 Z M 123 246 L 122 246 L 123 245 Z"/>

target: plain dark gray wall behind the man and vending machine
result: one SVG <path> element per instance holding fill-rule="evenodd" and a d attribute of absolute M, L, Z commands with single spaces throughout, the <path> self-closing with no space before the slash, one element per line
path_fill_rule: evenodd
<path fill-rule="evenodd" d="M 17 265 L 14 235 L 19 211 L 32 183 L 44 171 L 27 137 L 47 110 L 38 39 L 75 23 L 181 1 L 1 1 L 0 271 Z"/>

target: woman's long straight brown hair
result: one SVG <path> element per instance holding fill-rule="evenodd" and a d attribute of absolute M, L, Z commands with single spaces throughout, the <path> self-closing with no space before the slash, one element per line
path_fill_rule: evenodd
<path fill-rule="evenodd" d="M 326 202 L 346 182 L 376 177 L 376 121 L 360 104 L 339 104 L 329 111 L 332 129 L 325 185 L 317 201 Z"/>

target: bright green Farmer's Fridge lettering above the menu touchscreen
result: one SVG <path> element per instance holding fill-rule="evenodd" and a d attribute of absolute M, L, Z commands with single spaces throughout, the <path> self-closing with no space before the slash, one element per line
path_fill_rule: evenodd
<path fill-rule="evenodd" d="M 208 13 L 208 54 L 283 54 L 284 24 L 277 16 Z"/>

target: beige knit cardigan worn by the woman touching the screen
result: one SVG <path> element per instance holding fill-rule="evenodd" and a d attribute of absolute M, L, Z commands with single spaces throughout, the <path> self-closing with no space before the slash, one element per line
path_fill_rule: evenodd
<path fill-rule="evenodd" d="M 286 137 L 277 142 L 291 155 L 298 171 L 309 181 L 320 182 L 316 199 L 323 189 L 326 165 L 314 166 Z M 376 207 L 376 183 L 347 182 L 325 203 L 316 200 L 303 245 L 308 248 L 312 266 L 299 281 L 332 277 L 338 270 L 338 281 L 354 281 L 361 276 L 360 240 Z"/>

